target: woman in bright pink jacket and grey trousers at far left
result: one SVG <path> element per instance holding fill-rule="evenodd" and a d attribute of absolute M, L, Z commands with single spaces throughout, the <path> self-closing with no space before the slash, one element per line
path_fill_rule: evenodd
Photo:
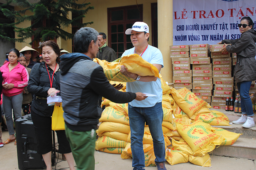
<path fill-rule="evenodd" d="M 12 109 L 15 116 L 14 120 L 20 118 L 23 100 L 22 92 L 24 87 L 28 85 L 27 70 L 18 62 L 18 56 L 20 56 L 20 53 L 16 48 L 10 50 L 8 55 L 9 61 L 0 68 L 3 77 L 3 111 L 10 135 L 3 144 L 15 141 Z"/>

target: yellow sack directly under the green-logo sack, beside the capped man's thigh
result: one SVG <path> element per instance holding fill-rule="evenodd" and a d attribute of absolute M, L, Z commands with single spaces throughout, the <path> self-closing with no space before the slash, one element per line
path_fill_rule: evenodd
<path fill-rule="evenodd" d="M 99 135 L 104 132 L 121 132 L 121 133 L 129 134 L 131 131 L 129 125 L 116 123 L 116 122 L 102 122 L 98 130 L 99 130 L 98 131 Z"/>

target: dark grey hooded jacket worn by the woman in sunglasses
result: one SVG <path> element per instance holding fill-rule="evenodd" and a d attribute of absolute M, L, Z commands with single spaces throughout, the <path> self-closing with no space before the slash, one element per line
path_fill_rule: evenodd
<path fill-rule="evenodd" d="M 237 62 L 234 69 L 234 81 L 256 80 L 256 31 L 251 29 L 242 33 L 236 40 L 223 40 L 222 44 L 230 43 L 226 47 L 229 53 L 237 54 Z"/>

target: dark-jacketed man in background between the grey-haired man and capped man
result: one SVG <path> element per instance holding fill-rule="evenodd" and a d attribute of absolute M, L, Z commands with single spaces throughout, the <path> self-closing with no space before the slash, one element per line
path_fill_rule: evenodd
<path fill-rule="evenodd" d="M 107 46 L 106 41 L 107 41 L 107 36 L 105 33 L 99 33 L 98 35 L 98 40 L 99 40 L 99 51 L 97 53 L 97 58 L 101 60 L 106 60 L 108 62 L 112 62 L 117 59 L 117 55 L 115 51 Z"/>

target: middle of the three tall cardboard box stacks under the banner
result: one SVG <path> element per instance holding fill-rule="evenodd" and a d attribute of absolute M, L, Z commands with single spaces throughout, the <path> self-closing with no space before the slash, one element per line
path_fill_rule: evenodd
<path fill-rule="evenodd" d="M 192 91 L 197 97 L 210 103 L 212 96 L 212 64 L 209 56 L 209 45 L 191 45 L 190 63 L 192 64 Z"/>

